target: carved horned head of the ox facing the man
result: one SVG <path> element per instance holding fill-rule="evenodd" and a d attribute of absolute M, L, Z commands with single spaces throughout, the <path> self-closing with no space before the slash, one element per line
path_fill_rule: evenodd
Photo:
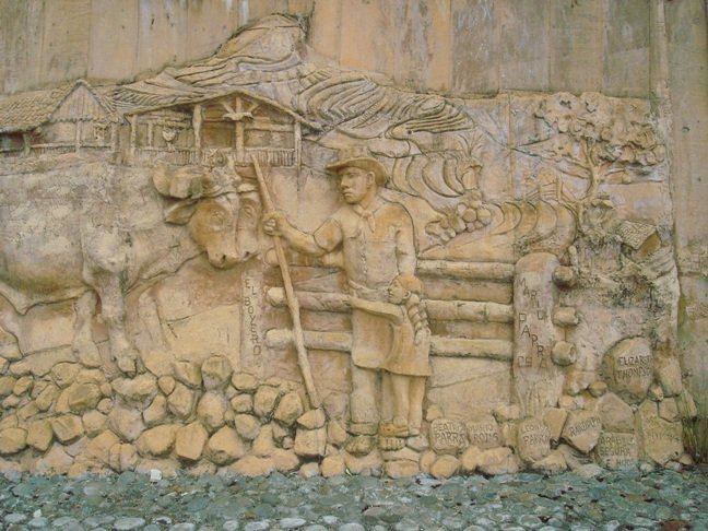
<path fill-rule="evenodd" d="M 176 200 L 165 208 L 165 221 L 188 225 L 212 266 L 225 269 L 256 255 L 260 199 L 238 174 L 227 168 L 158 165 L 153 184 L 162 196 Z"/>

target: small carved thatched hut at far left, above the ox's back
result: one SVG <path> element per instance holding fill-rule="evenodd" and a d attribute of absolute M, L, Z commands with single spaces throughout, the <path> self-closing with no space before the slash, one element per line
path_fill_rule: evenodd
<path fill-rule="evenodd" d="M 109 99 L 84 80 L 0 96 L 0 154 L 115 151 L 120 121 Z"/>

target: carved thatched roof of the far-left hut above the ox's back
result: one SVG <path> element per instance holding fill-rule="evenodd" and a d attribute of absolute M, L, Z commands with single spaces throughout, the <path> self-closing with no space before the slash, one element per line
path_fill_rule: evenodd
<path fill-rule="evenodd" d="M 82 91 L 84 97 L 70 98 Z M 62 111 L 68 99 L 72 109 Z M 75 118 L 71 118 L 71 117 Z M 113 105 L 84 80 L 56 88 L 0 96 L 0 133 L 30 131 L 47 121 L 74 121 L 99 117 L 120 121 Z"/>

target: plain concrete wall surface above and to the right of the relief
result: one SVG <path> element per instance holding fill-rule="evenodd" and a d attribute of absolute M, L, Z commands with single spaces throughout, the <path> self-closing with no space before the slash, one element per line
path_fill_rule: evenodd
<path fill-rule="evenodd" d="M 681 349 L 706 411 L 706 9 L 704 0 L 0 0 L 0 90 L 148 75 L 287 12 L 307 17 L 320 54 L 418 91 L 657 97 L 673 118 Z"/>

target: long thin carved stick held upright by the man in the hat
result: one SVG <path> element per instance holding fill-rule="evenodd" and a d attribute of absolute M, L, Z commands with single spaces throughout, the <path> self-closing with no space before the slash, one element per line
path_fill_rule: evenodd
<path fill-rule="evenodd" d="M 251 162 L 253 163 L 253 168 L 256 169 L 256 179 L 258 179 L 258 187 L 260 188 L 261 197 L 263 199 L 264 213 L 271 213 L 275 210 L 273 206 L 273 200 L 271 199 L 270 190 L 263 179 L 263 174 L 261 172 L 260 165 L 256 155 L 251 154 Z M 287 300 L 287 308 L 290 309 L 291 318 L 293 319 L 293 339 L 295 341 L 295 349 L 297 350 L 297 364 L 299 365 L 300 371 L 303 373 L 303 379 L 305 380 L 305 390 L 307 391 L 307 398 L 309 399 L 310 406 L 314 409 L 319 409 L 321 402 L 319 396 L 317 394 L 317 389 L 315 388 L 315 381 L 312 380 L 312 369 L 310 368 L 309 358 L 307 357 L 307 350 L 305 349 L 305 335 L 303 333 L 303 324 L 300 323 L 299 317 L 299 303 L 295 296 L 295 290 L 293 288 L 293 280 L 290 275 L 290 269 L 287 268 L 287 260 L 285 258 L 285 250 L 283 249 L 283 243 L 281 241 L 280 236 L 273 236 L 273 244 L 275 246 L 275 256 L 278 257 L 278 264 L 280 266 L 281 274 L 283 275 L 283 287 L 285 288 L 285 299 Z"/>

